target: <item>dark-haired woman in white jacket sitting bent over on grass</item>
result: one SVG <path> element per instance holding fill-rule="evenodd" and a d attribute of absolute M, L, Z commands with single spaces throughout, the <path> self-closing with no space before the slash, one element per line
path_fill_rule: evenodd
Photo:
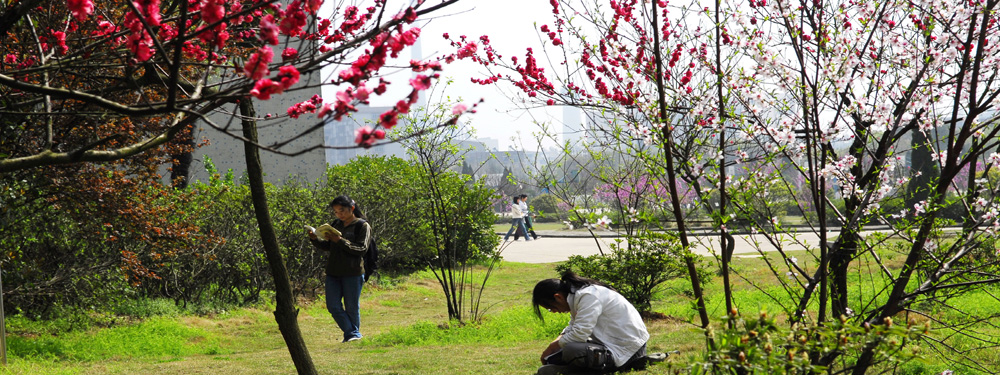
<path fill-rule="evenodd" d="M 543 308 L 570 313 L 569 325 L 542 352 L 539 375 L 645 367 L 649 332 L 635 307 L 614 289 L 567 272 L 561 280 L 538 282 L 531 303 L 539 319 Z"/>

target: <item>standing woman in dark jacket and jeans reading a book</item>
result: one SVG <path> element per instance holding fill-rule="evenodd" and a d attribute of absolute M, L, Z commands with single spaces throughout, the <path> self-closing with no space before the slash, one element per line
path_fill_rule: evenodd
<path fill-rule="evenodd" d="M 330 225 L 342 236 L 326 233 L 319 238 L 309 232 L 312 244 L 330 252 L 326 261 L 326 309 L 344 331 L 344 341 L 361 339 L 361 285 L 364 283 L 364 255 L 372 240 L 372 228 L 354 200 L 346 195 L 333 199 L 328 207 L 337 218 Z"/>

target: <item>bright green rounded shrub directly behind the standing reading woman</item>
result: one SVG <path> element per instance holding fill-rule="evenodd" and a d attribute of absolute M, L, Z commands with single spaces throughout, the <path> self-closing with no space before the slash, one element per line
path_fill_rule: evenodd
<path fill-rule="evenodd" d="M 358 202 L 368 217 L 379 245 L 379 269 L 408 273 L 427 267 L 437 256 L 434 231 L 427 217 L 431 195 L 426 173 L 410 161 L 397 157 L 363 156 L 327 171 L 327 186 L 319 192 L 325 206 L 342 194 Z M 468 181 L 458 173 L 438 176 L 440 200 L 461 205 L 451 222 L 464 236 L 461 257 L 481 258 L 496 248 L 489 209 L 493 191 Z"/>

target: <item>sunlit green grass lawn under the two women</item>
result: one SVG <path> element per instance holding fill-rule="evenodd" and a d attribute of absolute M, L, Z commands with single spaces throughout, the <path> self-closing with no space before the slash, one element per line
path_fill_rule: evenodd
<path fill-rule="evenodd" d="M 734 286 L 741 309 L 754 315 L 759 310 L 780 315 L 777 304 L 747 281 L 767 285 L 771 276 L 763 262 L 737 258 L 733 268 L 740 275 Z M 302 302 L 300 327 L 321 374 L 530 374 L 546 344 L 568 321 L 566 314 L 547 313 L 544 322 L 538 321 L 530 309 L 532 287 L 540 279 L 555 277 L 554 269 L 555 264 L 504 263 L 487 284 L 482 324 L 449 325 L 441 288 L 431 273 L 423 272 L 392 286 L 365 288 L 364 340 L 341 343 L 341 333 L 322 300 Z M 718 278 L 705 287 L 710 296 L 721 294 Z M 703 334 L 691 323 L 696 315 L 685 297 L 688 288 L 685 280 L 668 282 L 653 305 L 667 317 L 647 322 L 650 351 L 679 350 L 682 354 L 670 360 L 678 364 L 699 355 L 704 346 Z M 973 298 L 968 303 L 980 302 Z M 716 324 L 721 324 L 717 319 L 725 314 L 721 298 L 709 298 L 707 305 Z M 10 333 L 9 365 L 0 368 L 2 374 L 295 373 L 267 307 L 204 317 L 158 317 L 58 335 Z M 996 354 L 980 359 L 1000 364 Z M 943 370 L 927 366 L 910 373 Z M 645 373 L 670 371 L 658 365 Z"/>

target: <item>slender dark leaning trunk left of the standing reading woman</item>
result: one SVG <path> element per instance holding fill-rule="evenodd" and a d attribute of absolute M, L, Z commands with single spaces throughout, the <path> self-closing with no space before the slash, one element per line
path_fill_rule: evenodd
<path fill-rule="evenodd" d="M 306 348 L 306 343 L 302 340 L 302 332 L 299 331 L 299 310 L 295 308 L 292 285 L 288 280 L 288 270 L 285 269 L 285 262 L 281 259 L 281 252 L 278 251 L 278 238 L 274 233 L 271 215 L 267 208 L 264 172 L 260 164 L 260 152 L 256 145 L 256 113 L 249 97 L 240 100 L 240 115 L 243 117 L 243 136 L 249 140 L 244 142 L 243 148 L 247 158 L 250 195 L 253 199 L 254 213 L 257 215 L 257 226 L 260 227 L 260 239 L 264 243 L 264 254 L 271 267 L 271 276 L 274 277 L 276 300 L 274 320 L 278 322 L 278 330 L 281 331 L 281 337 L 285 339 L 288 353 L 292 355 L 292 362 L 295 363 L 295 369 L 298 370 L 298 373 L 300 375 L 316 375 L 316 366 L 312 363 L 309 349 Z"/>

